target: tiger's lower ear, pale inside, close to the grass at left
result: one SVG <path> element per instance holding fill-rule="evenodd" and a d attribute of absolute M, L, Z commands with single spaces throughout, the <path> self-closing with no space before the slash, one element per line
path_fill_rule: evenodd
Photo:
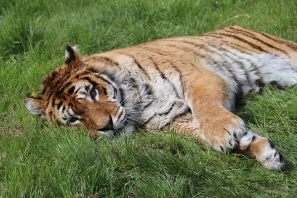
<path fill-rule="evenodd" d="M 24 100 L 26 108 L 34 115 L 39 115 L 42 118 L 46 118 L 46 112 L 44 109 L 44 101 L 37 98 L 26 98 Z"/>

